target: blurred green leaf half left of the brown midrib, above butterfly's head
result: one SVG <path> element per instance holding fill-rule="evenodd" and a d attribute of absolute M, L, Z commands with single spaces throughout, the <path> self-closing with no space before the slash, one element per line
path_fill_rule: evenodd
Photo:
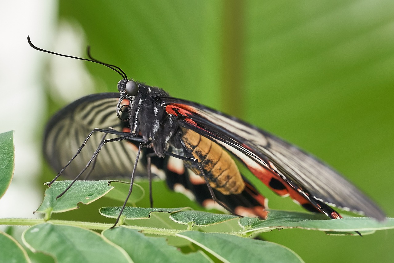
<path fill-rule="evenodd" d="M 128 77 L 176 91 L 174 96 L 206 98 L 210 105 L 219 95 L 212 88 L 219 86 L 219 8 L 215 1 L 61 1 L 59 6 L 62 18 L 82 25 L 99 60 L 120 66 Z M 116 91 L 119 76 L 90 66 Z"/>

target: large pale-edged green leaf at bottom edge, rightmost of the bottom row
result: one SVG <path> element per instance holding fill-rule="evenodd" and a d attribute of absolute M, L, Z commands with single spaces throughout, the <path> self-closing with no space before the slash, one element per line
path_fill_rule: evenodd
<path fill-rule="evenodd" d="M 198 231 L 177 236 L 190 240 L 223 262 L 303 262 L 292 250 L 272 242 Z"/>

